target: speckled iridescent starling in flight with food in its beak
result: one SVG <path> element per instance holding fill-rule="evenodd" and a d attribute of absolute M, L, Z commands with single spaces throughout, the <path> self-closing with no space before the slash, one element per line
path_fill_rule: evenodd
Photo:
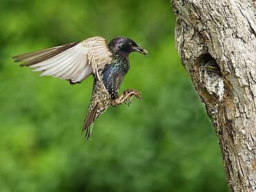
<path fill-rule="evenodd" d="M 21 62 L 20 66 L 41 72 L 39 76 L 66 79 L 71 85 L 80 84 L 90 75 L 93 76 L 91 102 L 82 128 L 88 140 L 93 122 L 107 111 L 109 105 L 118 106 L 124 102 L 129 105 L 133 96 L 143 99 L 140 91 L 131 88 L 118 95 L 122 80 L 130 68 L 131 52 L 149 54 L 127 37 L 115 37 L 107 44 L 104 37 L 97 36 L 12 58 Z"/>

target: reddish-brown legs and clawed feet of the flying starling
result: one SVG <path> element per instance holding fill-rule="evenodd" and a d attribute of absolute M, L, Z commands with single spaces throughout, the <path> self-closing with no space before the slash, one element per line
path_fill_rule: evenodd
<path fill-rule="evenodd" d="M 128 88 L 127 90 L 125 90 L 122 93 L 122 95 L 120 95 L 119 98 L 117 98 L 111 102 L 111 106 L 118 106 L 120 104 L 123 104 L 124 102 L 125 102 L 125 104 L 127 103 L 129 106 L 129 104 L 131 104 L 133 96 L 135 96 L 138 99 L 143 99 L 143 97 L 140 96 L 140 91 Z M 128 100 L 128 102 L 127 102 L 127 100 Z"/>

